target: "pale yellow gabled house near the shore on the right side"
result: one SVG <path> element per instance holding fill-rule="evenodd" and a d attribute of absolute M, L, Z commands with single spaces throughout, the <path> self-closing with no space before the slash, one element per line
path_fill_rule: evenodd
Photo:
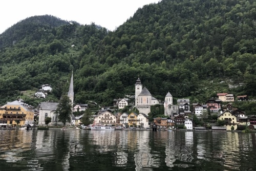
<path fill-rule="evenodd" d="M 229 111 L 224 111 L 221 115 L 219 115 L 218 119 L 225 120 L 225 125 L 227 127 L 227 131 L 231 131 L 231 127 L 234 127 L 234 130 L 237 130 L 237 117 L 233 115 Z"/>

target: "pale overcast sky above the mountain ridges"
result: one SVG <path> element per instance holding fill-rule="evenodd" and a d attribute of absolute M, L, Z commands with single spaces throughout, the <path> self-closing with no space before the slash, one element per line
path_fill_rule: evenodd
<path fill-rule="evenodd" d="M 1 1 L 0 34 L 30 16 L 53 15 L 80 24 L 94 22 L 109 30 L 126 22 L 143 5 L 160 0 L 5 0 Z"/>

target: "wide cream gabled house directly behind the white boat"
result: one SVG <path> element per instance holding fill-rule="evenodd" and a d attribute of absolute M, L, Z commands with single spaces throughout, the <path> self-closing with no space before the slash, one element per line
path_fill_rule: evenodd
<path fill-rule="evenodd" d="M 105 111 L 99 115 L 94 117 L 94 124 L 111 124 L 114 125 L 116 123 L 116 116 L 110 113 L 109 111 Z"/>

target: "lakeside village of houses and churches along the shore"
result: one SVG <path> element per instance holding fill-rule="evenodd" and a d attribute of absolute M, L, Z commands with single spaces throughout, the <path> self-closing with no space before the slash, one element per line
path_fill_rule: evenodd
<path fill-rule="evenodd" d="M 47 92 L 52 91 L 50 84 L 42 85 L 42 89 L 35 93 L 37 98 L 46 98 Z M 82 112 L 88 109 L 88 104 L 75 104 L 73 91 L 73 73 L 71 76 L 68 96 L 72 102 L 72 112 Z M 158 130 L 196 130 L 204 131 L 211 129 L 212 131 L 232 131 L 256 129 L 256 117 L 247 116 L 245 112 L 234 108 L 232 102 L 234 95 L 229 93 L 218 93 L 218 98 L 211 97 L 205 104 L 190 103 L 187 98 L 177 99 L 177 104 L 173 103 L 173 96 L 167 92 L 164 102 L 159 102 L 154 98 L 150 91 L 143 88 L 141 80 L 138 78 L 135 83 L 135 104 L 134 107 L 139 111 L 138 113 L 121 113 L 114 112 L 111 108 L 101 108 L 97 114 L 92 115 L 93 126 L 95 125 L 110 125 L 121 126 L 123 128 L 132 129 L 151 129 L 155 124 Z M 247 101 L 248 97 L 237 96 L 239 101 Z M 221 105 L 221 102 L 227 102 L 226 105 Z M 151 106 L 160 104 L 164 108 L 164 117 L 155 117 L 154 121 L 149 120 L 148 114 L 151 112 Z M 58 121 L 58 114 L 55 113 L 57 109 L 57 102 L 41 102 L 38 109 L 25 103 L 24 100 L 18 99 L 1 106 L 0 108 L 0 126 L 1 128 L 15 128 L 16 126 L 57 126 L 62 125 Z M 113 100 L 113 106 L 119 110 L 125 108 L 129 104 L 129 98 L 119 98 Z M 193 106 L 193 109 L 190 109 Z M 212 122 L 212 125 L 198 126 L 196 119 L 207 118 L 215 115 L 220 120 L 220 123 Z M 35 124 L 35 118 L 38 116 L 38 123 Z M 80 126 L 82 116 L 72 115 L 72 121 L 69 125 Z M 45 119 L 51 118 L 51 122 L 46 124 Z"/>

